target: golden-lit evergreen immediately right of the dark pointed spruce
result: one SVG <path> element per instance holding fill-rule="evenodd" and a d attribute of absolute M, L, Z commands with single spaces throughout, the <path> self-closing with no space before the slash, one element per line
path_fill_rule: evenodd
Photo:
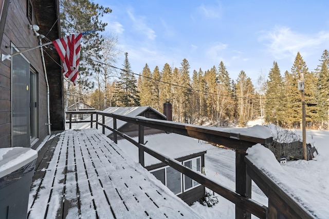
<path fill-rule="evenodd" d="M 142 75 L 140 77 L 140 105 L 141 106 L 153 106 L 152 105 L 152 73 L 148 66 L 145 64 Z"/>

